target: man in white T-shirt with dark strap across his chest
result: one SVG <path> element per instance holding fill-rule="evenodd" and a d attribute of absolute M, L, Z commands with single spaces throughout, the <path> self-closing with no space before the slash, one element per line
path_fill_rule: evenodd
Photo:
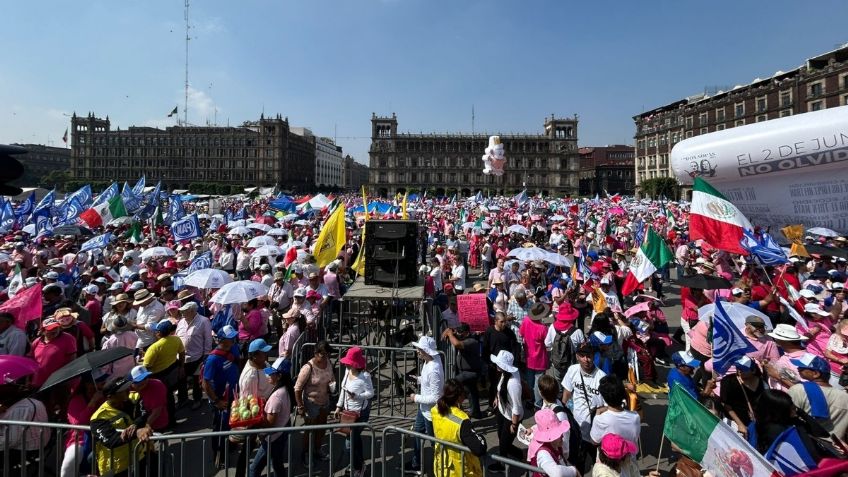
<path fill-rule="evenodd" d="M 577 348 L 577 364 L 572 364 L 562 379 L 562 402 L 573 399 L 574 419 L 580 425 L 583 440 L 592 443 L 594 411 L 604 406 L 599 387 L 606 373 L 595 367 L 594 349 L 589 343 Z M 580 466 L 578 466 L 580 467 Z"/>

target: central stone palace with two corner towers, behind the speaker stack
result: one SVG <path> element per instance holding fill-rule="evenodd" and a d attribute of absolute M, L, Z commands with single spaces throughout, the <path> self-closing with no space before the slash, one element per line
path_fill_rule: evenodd
<path fill-rule="evenodd" d="M 468 197 L 512 194 L 576 195 L 580 156 L 577 117 L 545 120 L 539 135 L 497 134 L 506 151 L 505 173 L 483 174 L 482 157 L 490 134 L 398 133 L 397 116 L 371 115 L 369 184 L 372 193 L 392 196 L 430 190 Z"/>

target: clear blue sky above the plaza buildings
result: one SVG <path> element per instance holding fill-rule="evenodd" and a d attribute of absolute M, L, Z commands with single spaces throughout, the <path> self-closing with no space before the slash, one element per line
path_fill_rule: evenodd
<path fill-rule="evenodd" d="M 4 2 L 0 143 L 55 143 L 65 115 L 170 125 L 183 109 L 181 0 Z M 368 160 L 371 113 L 410 132 L 632 143 L 632 116 L 848 41 L 844 1 L 195 0 L 189 121 L 266 114 Z M 482 153 L 482 151 L 481 151 Z"/>

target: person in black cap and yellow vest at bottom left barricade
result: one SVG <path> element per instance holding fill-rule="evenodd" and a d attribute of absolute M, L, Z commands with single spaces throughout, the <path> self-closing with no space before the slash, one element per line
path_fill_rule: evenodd
<path fill-rule="evenodd" d="M 126 376 L 111 378 L 103 388 L 104 402 L 91 416 L 94 455 L 100 475 L 129 476 L 131 452 L 138 460 L 138 475 L 156 469 L 154 455 L 147 456 L 147 446 L 153 429 L 147 424 L 147 414 L 136 399 L 130 397 L 132 380 Z"/>

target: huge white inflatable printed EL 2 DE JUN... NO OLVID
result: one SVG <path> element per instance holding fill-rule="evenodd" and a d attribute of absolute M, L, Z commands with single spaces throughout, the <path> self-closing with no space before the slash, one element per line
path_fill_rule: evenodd
<path fill-rule="evenodd" d="M 848 106 L 686 139 L 671 164 L 681 183 L 703 177 L 755 225 L 848 233 Z"/>

